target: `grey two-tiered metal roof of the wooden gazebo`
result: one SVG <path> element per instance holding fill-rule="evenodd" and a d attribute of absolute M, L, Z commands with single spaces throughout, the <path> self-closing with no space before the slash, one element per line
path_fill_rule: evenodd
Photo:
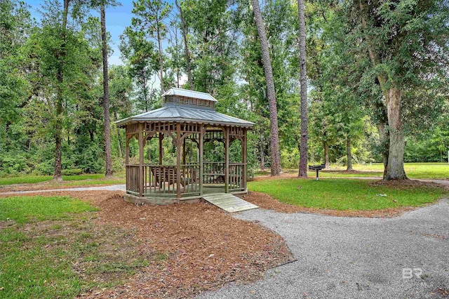
<path fill-rule="evenodd" d="M 212 95 L 208 93 L 199 93 L 197 91 L 188 91 L 181 88 L 170 88 L 163 97 L 167 95 L 179 95 L 186 98 L 196 98 L 201 100 L 215 101 Z M 179 102 L 165 102 L 163 107 L 149 112 L 128 117 L 116 121 L 117 126 L 123 127 L 126 124 L 144 121 L 163 121 L 163 122 L 186 122 L 196 124 L 214 124 L 222 126 L 240 126 L 251 128 L 253 123 L 230 117 L 229 115 L 216 112 L 213 107 L 202 107 L 196 105 L 187 105 Z"/>

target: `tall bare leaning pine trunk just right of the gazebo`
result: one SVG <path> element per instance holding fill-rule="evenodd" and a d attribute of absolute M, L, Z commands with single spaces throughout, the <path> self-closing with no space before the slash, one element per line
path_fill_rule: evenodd
<path fill-rule="evenodd" d="M 272 159 L 272 175 L 281 174 L 281 156 L 279 154 L 279 127 L 278 112 L 276 107 L 276 93 L 274 90 L 274 79 L 272 62 L 269 58 L 267 34 L 265 32 L 262 13 L 260 13 L 259 1 L 251 0 L 257 33 L 259 34 L 260 50 L 262 51 L 262 62 L 264 64 L 265 81 L 267 83 L 267 98 L 269 104 L 270 121 L 270 148 Z"/>

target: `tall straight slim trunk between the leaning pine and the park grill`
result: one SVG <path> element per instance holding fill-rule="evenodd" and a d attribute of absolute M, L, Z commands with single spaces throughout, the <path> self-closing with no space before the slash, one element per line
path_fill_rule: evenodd
<path fill-rule="evenodd" d="M 297 15 L 300 21 L 300 88 L 301 88 L 301 150 L 298 176 L 307 178 L 307 66 L 306 66 L 306 22 L 304 0 L 297 0 Z"/>

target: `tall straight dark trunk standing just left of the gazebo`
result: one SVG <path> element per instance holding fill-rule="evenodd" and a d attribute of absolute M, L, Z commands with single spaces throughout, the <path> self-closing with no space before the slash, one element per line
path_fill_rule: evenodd
<path fill-rule="evenodd" d="M 106 37 L 106 13 L 105 2 L 101 5 L 101 40 L 103 55 L 103 108 L 105 110 L 105 177 L 112 178 L 112 157 L 111 157 L 111 128 L 109 127 L 109 77 L 107 74 L 107 37 Z"/>

